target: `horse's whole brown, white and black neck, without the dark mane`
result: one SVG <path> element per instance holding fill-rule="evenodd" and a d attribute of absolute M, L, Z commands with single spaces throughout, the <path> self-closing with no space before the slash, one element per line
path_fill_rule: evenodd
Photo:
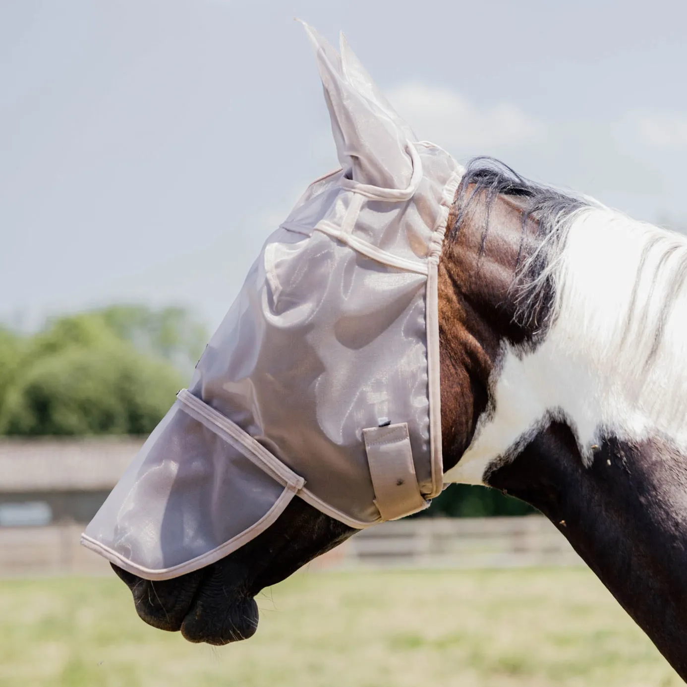
<path fill-rule="evenodd" d="M 489 227 L 478 208 L 440 264 L 447 478 L 539 508 L 687 679 L 684 240 L 581 213 L 542 331 L 508 322 L 517 204 Z"/>

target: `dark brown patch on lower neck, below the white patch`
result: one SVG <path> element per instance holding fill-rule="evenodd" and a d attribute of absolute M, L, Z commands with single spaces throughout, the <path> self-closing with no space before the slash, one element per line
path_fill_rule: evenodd
<path fill-rule="evenodd" d="M 687 679 L 684 455 L 608 436 L 585 466 L 570 427 L 554 421 L 486 482 L 539 508 Z"/>

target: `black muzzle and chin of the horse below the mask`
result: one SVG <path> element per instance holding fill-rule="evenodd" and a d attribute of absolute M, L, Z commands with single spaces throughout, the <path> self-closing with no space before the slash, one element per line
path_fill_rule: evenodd
<path fill-rule="evenodd" d="M 131 589 L 139 618 L 157 629 L 181 631 L 189 642 L 221 646 L 254 635 L 254 596 L 350 537 L 355 530 L 293 499 L 256 539 L 202 570 L 170 580 L 144 580 L 112 565 Z"/>

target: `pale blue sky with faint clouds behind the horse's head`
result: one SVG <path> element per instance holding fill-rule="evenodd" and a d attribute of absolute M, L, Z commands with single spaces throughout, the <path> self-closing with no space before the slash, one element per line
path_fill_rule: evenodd
<path fill-rule="evenodd" d="M 3 0 L 0 319 L 187 304 L 214 328 L 336 166 L 300 16 L 418 135 L 687 227 L 687 3 Z"/>

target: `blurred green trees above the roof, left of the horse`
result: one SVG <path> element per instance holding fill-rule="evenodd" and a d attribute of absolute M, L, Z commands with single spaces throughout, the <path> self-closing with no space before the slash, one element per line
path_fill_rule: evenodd
<path fill-rule="evenodd" d="M 32 337 L 0 329 L 0 433 L 148 433 L 204 339 L 181 308 L 111 306 Z"/>

